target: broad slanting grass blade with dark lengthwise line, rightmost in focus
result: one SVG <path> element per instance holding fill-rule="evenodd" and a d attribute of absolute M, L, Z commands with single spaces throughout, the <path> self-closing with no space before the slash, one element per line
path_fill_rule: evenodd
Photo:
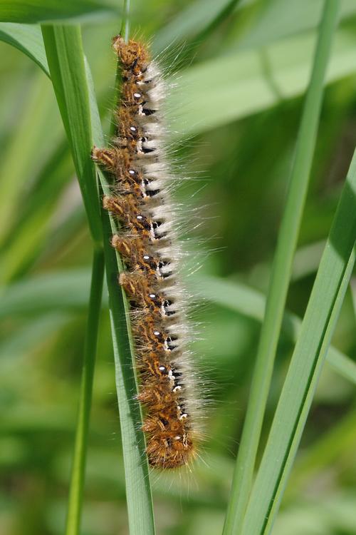
<path fill-rule="evenodd" d="M 244 535 L 271 531 L 355 263 L 355 238 L 356 151 L 248 501 Z"/>

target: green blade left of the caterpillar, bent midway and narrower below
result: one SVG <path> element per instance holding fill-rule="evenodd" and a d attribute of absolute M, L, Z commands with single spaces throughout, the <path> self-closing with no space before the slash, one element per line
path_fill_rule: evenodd
<path fill-rule="evenodd" d="M 89 315 L 66 521 L 66 534 L 78 535 L 83 504 L 91 397 L 103 289 L 104 257 L 101 243 L 103 233 L 96 173 L 90 158 L 93 138 L 88 88 L 86 83 L 82 83 L 86 79 L 86 73 L 80 29 L 77 26 L 67 28 L 43 26 L 42 33 L 53 88 L 72 151 L 94 244 Z M 78 91 L 79 88 L 80 91 Z"/>

